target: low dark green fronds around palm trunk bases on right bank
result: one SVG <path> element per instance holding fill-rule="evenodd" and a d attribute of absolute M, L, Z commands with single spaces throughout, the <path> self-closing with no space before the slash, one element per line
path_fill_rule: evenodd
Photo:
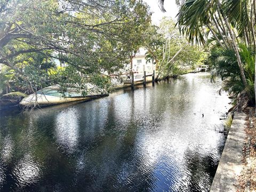
<path fill-rule="evenodd" d="M 241 55 L 243 62 L 243 67 L 245 69 L 245 76 L 247 80 L 246 87 L 242 82 L 241 74 L 239 73 L 239 67 L 237 65 L 237 60 L 233 49 L 222 49 L 221 47 L 214 47 L 214 49 L 211 50 L 209 57 L 210 62 L 215 67 L 215 70 L 212 73 L 212 80 L 215 76 L 220 76 L 223 80 L 220 91 L 227 91 L 233 97 L 233 100 L 236 100 L 238 94 L 245 89 L 251 93 L 252 98 L 254 95 L 253 82 L 255 73 L 255 53 L 252 49 L 248 49 L 244 44 L 239 44 L 239 50 L 239 54 Z"/>

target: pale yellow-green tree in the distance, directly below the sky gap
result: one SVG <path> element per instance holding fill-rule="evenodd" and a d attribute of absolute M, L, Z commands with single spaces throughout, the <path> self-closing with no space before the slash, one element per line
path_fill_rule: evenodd
<path fill-rule="evenodd" d="M 153 35 L 146 43 L 146 58 L 154 58 L 158 76 L 162 78 L 173 73 L 179 75 L 186 66 L 195 68 L 206 58 L 202 47 L 187 44 L 187 39 L 180 35 L 171 18 L 163 18 L 159 28 L 151 28 L 151 31 Z"/>

